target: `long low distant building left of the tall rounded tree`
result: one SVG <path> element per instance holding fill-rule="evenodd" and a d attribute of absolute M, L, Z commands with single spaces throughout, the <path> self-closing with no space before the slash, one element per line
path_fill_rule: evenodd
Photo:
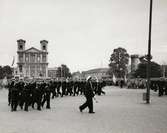
<path fill-rule="evenodd" d="M 107 79 L 111 77 L 108 74 L 108 68 L 96 68 L 96 69 L 91 69 L 88 71 L 83 71 L 82 75 L 85 78 L 87 78 L 88 76 L 92 76 L 97 79 Z"/>

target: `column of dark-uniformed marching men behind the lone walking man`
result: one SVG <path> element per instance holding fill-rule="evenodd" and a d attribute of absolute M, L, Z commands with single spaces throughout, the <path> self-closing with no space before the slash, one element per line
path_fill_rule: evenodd
<path fill-rule="evenodd" d="M 85 80 L 11 80 L 8 84 L 8 105 L 11 111 L 17 111 L 18 106 L 24 111 L 33 109 L 50 109 L 50 99 L 63 96 L 83 95 L 85 90 Z M 93 81 L 94 93 L 105 94 L 102 88 L 105 81 Z"/>

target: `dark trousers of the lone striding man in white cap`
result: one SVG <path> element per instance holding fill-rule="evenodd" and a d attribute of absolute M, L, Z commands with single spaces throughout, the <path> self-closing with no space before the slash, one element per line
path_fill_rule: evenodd
<path fill-rule="evenodd" d="M 92 97 L 86 97 L 86 102 L 80 106 L 80 109 L 84 110 L 86 107 L 89 108 L 89 112 L 93 112 L 93 99 L 92 99 Z"/>

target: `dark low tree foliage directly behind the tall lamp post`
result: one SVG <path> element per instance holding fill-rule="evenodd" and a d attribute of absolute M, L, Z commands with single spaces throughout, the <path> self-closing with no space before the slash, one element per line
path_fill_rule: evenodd
<path fill-rule="evenodd" d="M 150 66 L 151 66 L 150 77 L 151 78 L 161 77 L 162 75 L 161 66 L 156 62 L 151 62 Z M 134 72 L 133 76 L 135 78 L 137 77 L 146 78 L 147 77 L 147 62 L 146 61 L 139 63 L 138 68 Z"/>

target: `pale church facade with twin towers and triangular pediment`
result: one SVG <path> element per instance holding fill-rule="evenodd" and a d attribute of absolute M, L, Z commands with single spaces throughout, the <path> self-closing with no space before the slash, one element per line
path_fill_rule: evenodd
<path fill-rule="evenodd" d="M 17 40 L 17 75 L 21 77 L 48 77 L 48 41 L 40 41 L 41 49 L 25 49 L 25 40 Z"/>

